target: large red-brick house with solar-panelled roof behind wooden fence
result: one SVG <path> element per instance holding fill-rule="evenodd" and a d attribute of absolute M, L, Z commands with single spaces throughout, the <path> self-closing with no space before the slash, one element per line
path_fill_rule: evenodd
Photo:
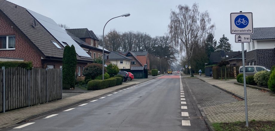
<path fill-rule="evenodd" d="M 51 27 L 48 27 L 47 23 L 51 23 L 48 24 Z M 32 61 L 34 68 L 62 68 L 63 51 L 66 45 L 75 46 L 76 72 L 81 75 L 84 66 L 92 63 L 93 59 L 71 39 L 65 30 L 46 16 L 9 1 L 0 0 L 0 59 L 2 61 Z"/>

